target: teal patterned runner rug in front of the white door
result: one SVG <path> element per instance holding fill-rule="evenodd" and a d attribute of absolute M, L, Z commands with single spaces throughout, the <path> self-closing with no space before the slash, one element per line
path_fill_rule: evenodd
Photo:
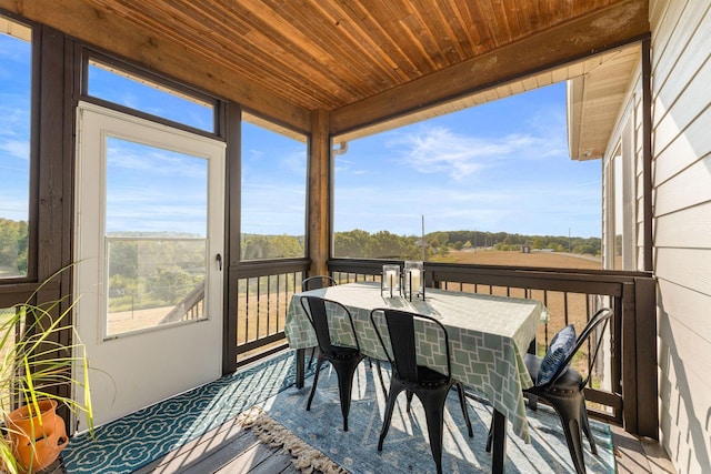
<path fill-rule="evenodd" d="M 296 380 L 296 353 L 266 362 L 71 438 L 62 452 L 68 474 L 124 474 L 274 396 Z"/>

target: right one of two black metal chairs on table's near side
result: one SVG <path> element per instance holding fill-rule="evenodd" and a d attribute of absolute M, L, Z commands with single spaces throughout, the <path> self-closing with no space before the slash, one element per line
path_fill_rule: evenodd
<path fill-rule="evenodd" d="M 388 334 L 390 340 L 390 350 L 385 345 L 379 325 L 373 317 L 375 313 L 382 313 L 385 319 Z M 447 329 L 433 317 L 410 313 L 407 311 L 391 309 L 375 309 L 370 312 L 370 321 L 375 329 L 375 334 L 380 340 L 380 344 L 392 367 L 390 377 L 390 391 L 385 406 L 385 415 L 382 422 L 380 440 L 378 441 L 378 451 L 382 451 L 383 442 L 390 428 L 392 412 L 394 410 L 398 395 L 402 391 L 407 391 L 407 410 L 410 412 L 412 395 L 422 403 L 427 420 L 427 428 L 430 438 L 430 450 L 437 465 L 437 472 L 442 472 L 442 434 L 444 431 L 444 403 L 447 395 L 453 385 L 457 385 L 459 392 L 459 401 L 469 437 L 473 437 L 469 412 L 467 411 L 467 401 L 464 396 L 464 386 L 461 382 L 457 382 L 451 377 L 451 362 L 449 350 L 449 336 Z M 421 325 L 421 326 L 420 326 Z M 428 366 L 417 364 L 417 342 L 415 334 L 431 327 L 441 333 L 439 343 L 445 349 L 447 354 L 447 374 L 441 374 Z"/>

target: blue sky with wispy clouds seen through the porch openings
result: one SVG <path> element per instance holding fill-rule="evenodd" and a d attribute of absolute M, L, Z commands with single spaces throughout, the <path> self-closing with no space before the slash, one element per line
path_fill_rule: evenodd
<path fill-rule="evenodd" d="M 0 34 L 0 216 L 26 220 L 29 46 L 19 43 Z M 211 127 L 202 107 L 92 71 L 97 95 Z M 243 140 L 242 231 L 303 234 L 306 144 L 248 124 Z M 356 140 L 334 167 L 336 231 L 418 235 L 424 215 L 427 232 L 601 233 L 601 163 L 569 158 L 564 83 Z M 176 175 L 161 175 L 151 177 L 152 195 L 174 196 Z M 167 221 L 202 233 L 190 219 Z"/>

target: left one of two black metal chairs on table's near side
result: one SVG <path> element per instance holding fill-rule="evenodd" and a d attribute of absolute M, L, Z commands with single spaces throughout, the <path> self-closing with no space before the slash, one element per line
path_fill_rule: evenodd
<path fill-rule="evenodd" d="M 316 373 L 313 374 L 313 386 L 309 394 L 309 401 L 307 403 L 307 411 L 311 410 L 311 401 L 316 393 L 316 386 L 319 383 L 319 373 L 321 365 L 324 361 L 331 363 L 336 369 L 338 375 L 338 391 L 341 399 L 341 413 L 343 414 L 343 431 L 348 431 L 348 413 L 351 407 L 351 387 L 353 384 L 353 374 L 360 361 L 365 359 L 360 352 L 360 344 L 358 343 L 358 336 L 356 335 L 356 326 L 353 325 L 353 319 L 350 311 L 342 304 L 324 300 L 319 296 L 301 296 L 301 306 L 304 313 L 309 317 L 316 336 L 319 342 L 319 356 L 316 364 Z M 340 314 L 341 317 L 347 317 L 352 331 L 353 342 L 352 346 L 334 345 L 331 342 L 331 321 L 336 317 L 336 314 Z"/>

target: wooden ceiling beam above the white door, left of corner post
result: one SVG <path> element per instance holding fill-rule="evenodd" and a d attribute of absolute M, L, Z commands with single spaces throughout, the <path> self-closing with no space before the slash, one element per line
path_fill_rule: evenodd
<path fill-rule="evenodd" d="M 191 54 L 180 43 L 164 41 L 118 14 L 82 0 L 0 0 L 0 8 L 47 24 L 87 44 L 101 48 L 206 92 L 240 103 L 308 132 L 311 112 L 258 84 L 237 79 L 236 71 Z"/>

